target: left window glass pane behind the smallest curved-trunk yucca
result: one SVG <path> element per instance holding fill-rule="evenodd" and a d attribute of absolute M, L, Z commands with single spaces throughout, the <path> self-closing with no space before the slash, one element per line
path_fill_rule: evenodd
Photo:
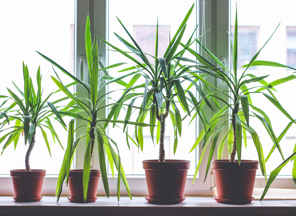
<path fill-rule="evenodd" d="M 28 66 L 34 86 L 37 85 L 36 74 L 40 65 L 44 99 L 58 89 L 50 77 L 55 76 L 51 63 L 35 50 L 54 59 L 74 74 L 74 0 L 0 1 L 0 20 L 0 95 L 9 95 L 6 87 L 19 95 L 12 81 L 21 90 L 24 89 L 22 61 Z M 64 84 L 72 82 L 66 75 L 59 73 L 59 76 Z M 49 101 L 53 102 L 62 97 L 65 97 L 64 93 L 56 93 L 49 98 Z M 66 124 L 70 120 L 67 117 L 63 119 Z M 65 148 L 67 131 L 57 121 L 53 119 L 51 121 Z M 37 128 L 35 146 L 30 155 L 31 169 L 45 169 L 46 174 L 59 174 L 65 152 L 57 140 L 54 144 L 50 131 L 44 130 L 52 156 L 50 157 L 42 133 Z M 4 134 L 5 131 L 1 132 L 0 136 Z M 10 169 L 25 169 L 25 153 L 28 144 L 25 146 L 23 140 L 24 137 L 21 136 L 16 150 L 13 142 L 4 150 L 0 157 L 0 174 L 9 174 Z M 1 143 L 1 147 L 5 141 Z"/>

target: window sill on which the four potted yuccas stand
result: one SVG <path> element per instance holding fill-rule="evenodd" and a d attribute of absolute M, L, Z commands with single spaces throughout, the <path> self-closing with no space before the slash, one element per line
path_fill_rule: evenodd
<path fill-rule="evenodd" d="M 245 205 L 217 203 L 212 196 L 187 196 L 181 204 L 149 204 L 143 196 L 106 198 L 98 196 L 94 203 L 71 203 L 61 197 L 45 196 L 40 202 L 18 203 L 12 197 L 0 197 L 0 212 L 9 215 L 295 215 L 296 201 L 252 201 Z M 240 213 L 238 213 L 240 212 Z"/>

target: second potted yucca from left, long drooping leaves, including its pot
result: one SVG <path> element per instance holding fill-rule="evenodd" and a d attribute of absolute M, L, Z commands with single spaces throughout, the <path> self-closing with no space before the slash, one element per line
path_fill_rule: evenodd
<path fill-rule="evenodd" d="M 112 174 L 114 177 L 114 164 L 115 168 L 118 171 L 118 201 L 120 196 L 120 180 L 123 182 L 128 195 L 130 198 L 131 193 L 129 191 L 128 182 L 126 180 L 123 166 L 120 162 L 120 154 L 118 151 L 117 143 L 114 142 L 109 136 L 107 136 L 103 128 L 99 123 L 101 122 L 112 122 L 112 123 L 125 123 L 123 120 L 111 120 L 110 118 L 103 118 L 98 116 L 98 112 L 101 109 L 104 109 L 108 106 L 118 107 L 123 104 L 122 98 L 133 89 L 132 87 L 125 89 L 125 93 L 123 96 L 115 103 L 109 104 L 106 106 L 102 106 L 101 103 L 108 97 L 108 93 L 103 95 L 98 95 L 99 90 L 104 90 L 106 84 L 104 84 L 104 79 L 113 79 L 110 77 L 107 71 L 105 71 L 105 75 L 99 76 L 99 65 L 102 65 L 102 62 L 99 60 L 99 52 L 100 45 L 98 45 L 97 36 L 94 36 L 94 41 L 91 43 L 91 31 L 90 31 L 90 22 L 89 16 L 87 16 L 86 21 L 86 33 L 85 33 L 85 41 L 86 41 L 86 54 L 87 54 L 87 63 L 89 68 L 90 81 L 86 83 L 84 81 L 79 80 L 74 77 L 72 74 L 67 72 L 64 68 L 59 66 L 56 62 L 52 61 L 50 58 L 45 55 L 39 53 L 43 58 L 51 62 L 53 65 L 57 66 L 62 72 L 71 77 L 76 83 L 82 85 L 85 90 L 89 93 L 89 98 L 78 98 L 75 97 L 68 88 L 62 83 L 59 79 L 59 76 L 55 72 L 58 79 L 52 76 L 52 80 L 56 83 L 60 90 L 62 90 L 70 99 L 72 99 L 75 104 L 83 109 L 83 111 L 87 114 L 88 117 L 83 117 L 82 115 L 78 115 L 72 112 L 63 112 L 63 115 L 68 115 L 74 117 L 70 120 L 69 129 L 68 129 L 68 142 L 67 149 L 65 152 L 65 156 L 63 159 L 63 163 L 61 166 L 61 170 L 59 173 L 59 178 L 57 182 L 57 190 L 56 196 L 57 201 L 59 201 L 61 192 L 62 192 L 62 184 L 66 179 L 67 185 L 69 184 L 70 195 L 68 199 L 71 202 L 94 202 L 96 201 L 96 192 L 98 187 L 99 177 L 102 176 L 102 180 L 104 183 L 104 189 L 107 197 L 109 197 L 109 186 L 107 179 L 107 169 L 106 169 L 106 159 L 105 152 L 107 154 L 108 161 L 110 163 L 110 167 L 112 170 Z M 115 79 L 115 78 L 114 78 Z M 126 83 L 120 81 L 120 78 L 116 80 L 119 84 L 123 84 L 126 87 Z M 78 95 L 79 96 L 79 95 Z M 85 102 L 87 101 L 87 102 Z M 89 105 L 90 104 L 90 105 Z M 113 110 L 112 108 L 112 110 Z M 86 122 L 85 131 L 78 135 L 78 138 L 74 141 L 74 133 L 76 129 L 74 128 L 74 122 L 76 119 L 81 119 Z M 152 126 L 151 124 L 141 123 L 141 122 L 126 122 L 127 124 L 132 124 L 136 126 L 146 127 Z M 74 153 L 76 151 L 78 143 L 82 140 L 83 137 L 86 137 L 86 152 L 84 156 L 83 170 L 70 170 L 71 163 L 73 161 Z M 117 153 L 112 147 L 114 144 Z M 91 161 L 93 158 L 94 147 L 95 144 L 98 145 L 98 154 L 99 154 L 99 163 L 101 170 L 91 169 Z"/>

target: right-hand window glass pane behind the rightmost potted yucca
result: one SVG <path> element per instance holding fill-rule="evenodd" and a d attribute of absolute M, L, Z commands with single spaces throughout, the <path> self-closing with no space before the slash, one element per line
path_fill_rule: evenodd
<path fill-rule="evenodd" d="M 272 4 L 274 2 L 275 4 Z M 234 36 L 235 12 L 237 4 L 237 19 L 238 19 L 238 68 L 239 75 L 242 74 L 244 68 L 242 65 L 250 62 L 250 59 L 260 48 L 265 44 L 271 34 L 274 32 L 278 24 L 279 28 L 276 30 L 270 41 L 260 52 L 256 60 L 274 61 L 281 64 L 287 64 L 295 67 L 296 59 L 296 20 L 293 16 L 295 1 L 271 1 L 271 4 L 266 4 L 266 1 L 231 1 L 231 36 Z M 254 7 L 254 5 L 256 7 Z M 294 70 L 268 67 L 268 66 L 254 66 L 247 70 L 246 73 L 254 74 L 256 76 L 270 75 L 265 80 L 270 83 L 279 78 L 292 75 Z M 256 84 L 248 84 L 251 88 Z M 284 109 L 295 118 L 295 100 L 293 92 L 295 91 L 296 80 L 291 80 L 287 83 L 275 86 L 276 91 L 272 91 Z M 266 91 L 266 93 L 268 93 Z M 262 94 L 252 94 L 252 103 L 255 107 L 262 109 L 271 120 L 272 128 L 275 135 L 278 137 L 283 129 L 287 126 L 290 120 L 282 114 L 268 99 Z M 253 111 L 253 110 L 252 110 Z M 255 117 L 250 118 L 250 126 L 257 132 L 260 142 L 263 146 L 264 156 L 268 155 L 273 142 L 266 132 L 263 124 Z M 284 158 L 289 157 L 293 153 L 295 146 L 295 124 L 291 126 L 289 131 L 281 139 L 280 146 Z M 243 144 L 244 145 L 244 144 Z M 253 144 L 250 134 L 247 134 L 247 149 L 242 148 L 242 159 L 258 160 L 258 155 Z M 275 149 L 274 153 L 266 163 L 266 171 L 269 174 L 279 164 L 283 162 L 280 153 Z M 292 175 L 293 163 L 287 165 L 281 170 L 279 175 Z M 258 175 L 261 175 L 258 169 Z"/>

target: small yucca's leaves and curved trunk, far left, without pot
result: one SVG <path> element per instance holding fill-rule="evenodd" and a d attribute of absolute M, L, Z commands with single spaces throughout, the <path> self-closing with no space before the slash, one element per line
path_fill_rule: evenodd
<path fill-rule="evenodd" d="M 9 146 L 9 144 L 11 144 L 12 142 L 14 142 L 14 147 L 16 148 L 17 143 L 19 142 L 19 137 L 22 134 L 22 136 L 24 136 L 25 138 L 24 139 L 25 145 L 27 144 L 27 142 L 29 143 L 29 147 L 25 156 L 25 171 L 31 171 L 29 158 L 33 150 L 33 147 L 35 145 L 35 136 L 36 136 L 37 127 L 39 127 L 42 132 L 42 135 L 44 137 L 44 140 L 50 155 L 51 155 L 50 147 L 49 147 L 46 131 L 44 130 L 45 128 L 48 129 L 52 134 L 54 142 L 55 142 L 55 139 L 57 139 L 57 141 L 62 147 L 62 144 L 59 141 L 59 137 L 56 131 L 54 130 L 54 127 L 52 126 L 50 117 L 54 117 L 66 129 L 65 127 L 66 124 L 63 121 L 59 112 L 57 111 L 56 107 L 54 107 L 54 104 L 64 101 L 68 99 L 68 97 L 53 101 L 51 103 L 48 100 L 53 93 L 50 93 L 48 96 L 46 96 L 44 100 L 42 100 L 43 89 L 41 87 L 42 75 L 40 73 L 40 66 L 38 67 L 38 71 L 37 71 L 37 88 L 34 88 L 32 79 L 29 76 L 28 66 L 25 65 L 24 62 L 23 62 L 23 78 L 24 78 L 24 91 L 22 91 L 13 82 L 13 84 L 15 85 L 15 87 L 17 88 L 18 92 L 21 94 L 23 99 L 20 99 L 17 96 L 17 94 L 15 94 L 12 90 L 7 88 L 11 96 L 9 97 L 9 99 L 5 100 L 1 104 L 1 107 L 2 107 L 10 99 L 14 101 L 9 107 L 4 109 L 2 108 L 0 111 L 1 113 L 0 119 L 4 119 L 4 121 L 1 123 L 1 129 L 6 124 L 9 125 L 12 121 L 15 120 L 14 126 L 2 129 L 0 131 L 2 132 L 5 130 L 11 130 L 9 133 L 5 134 L 0 138 L 0 143 L 1 143 L 8 136 L 8 139 L 6 140 L 2 148 L 1 155 L 4 152 L 4 150 Z M 36 92 L 35 92 L 35 89 L 37 90 Z M 1 96 L 1 97 L 8 97 L 8 96 Z M 70 107 L 65 107 L 61 109 L 61 111 L 66 111 L 69 108 Z"/>

